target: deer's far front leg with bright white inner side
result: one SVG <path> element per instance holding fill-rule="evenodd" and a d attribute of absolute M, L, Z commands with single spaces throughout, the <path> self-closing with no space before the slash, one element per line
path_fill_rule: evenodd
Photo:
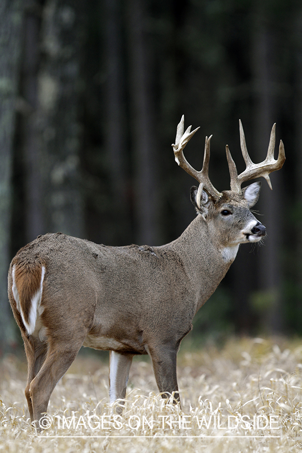
<path fill-rule="evenodd" d="M 116 400 L 124 400 L 129 378 L 129 371 L 132 363 L 132 354 L 121 354 L 116 351 L 110 351 L 109 359 L 109 396 L 110 404 Z M 120 414 L 123 411 L 124 402 L 116 408 Z"/>

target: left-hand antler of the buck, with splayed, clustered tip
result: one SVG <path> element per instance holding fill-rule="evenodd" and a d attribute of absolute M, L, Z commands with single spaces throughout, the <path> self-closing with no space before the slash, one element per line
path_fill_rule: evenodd
<path fill-rule="evenodd" d="M 192 126 L 189 126 L 184 132 L 184 124 L 185 117 L 183 115 L 181 117 L 180 123 L 177 126 L 175 144 L 172 144 L 175 155 L 175 161 L 181 168 L 183 168 L 187 173 L 189 173 L 189 175 L 193 176 L 193 178 L 195 178 L 199 182 L 199 184 L 202 184 L 204 190 L 209 195 L 211 195 L 215 201 L 217 201 L 222 196 L 222 193 L 218 192 L 218 190 L 215 189 L 208 175 L 210 160 L 210 140 L 212 136 L 210 135 L 209 138 L 205 137 L 203 166 L 202 170 L 198 172 L 187 162 L 183 154 L 183 149 L 190 140 L 190 138 L 193 137 L 195 132 L 199 129 L 199 127 L 192 130 L 191 132 Z"/>

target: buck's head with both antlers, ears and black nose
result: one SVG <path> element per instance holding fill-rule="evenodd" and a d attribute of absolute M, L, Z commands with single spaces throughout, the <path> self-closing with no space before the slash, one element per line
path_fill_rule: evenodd
<path fill-rule="evenodd" d="M 243 223 L 243 220 L 245 222 L 247 221 L 248 214 L 245 207 L 251 208 L 254 206 L 258 200 L 260 192 L 260 182 L 253 183 L 244 189 L 241 188 L 242 183 L 251 179 L 263 177 L 272 189 L 269 174 L 279 170 L 284 164 L 285 153 L 282 140 L 280 140 L 278 159 L 274 159 L 275 126 L 276 125 L 274 124 L 272 127 L 266 159 L 260 164 L 254 164 L 248 154 L 243 126 L 239 120 L 240 144 L 242 155 L 246 163 L 246 169 L 238 175 L 229 146 L 226 145 L 225 150 L 231 176 L 231 190 L 225 190 L 222 192 L 218 192 L 218 190 L 215 189 L 208 176 L 210 140 L 212 135 L 205 137 L 203 166 L 201 171 L 197 171 L 187 162 L 183 154 L 183 149 L 199 127 L 191 132 L 192 126 L 189 126 L 184 132 L 184 116 L 182 116 L 181 121 L 177 126 L 175 144 L 172 144 L 175 161 L 181 168 L 183 168 L 199 182 L 198 188 L 195 186 L 191 188 L 191 201 L 193 202 L 197 212 L 201 214 L 205 221 L 209 221 L 210 223 L 211 219 L 214 220 L 214 234 L 217 234 L 217 231 L 223 231 L 225 241 L 229 241 L 229 244 L 232 243 L 232 240 L 230 240 L 230 237 L 225 234 L 225 228 L 222 228 L 222 225 L 225 226 L 225 224 L 228 223 L 230 224 L 230 233 L 232 232 L 234 235 L 234 244 L 258 242 L 262 236 L 265 236 L 265 227 L 260 222 L 256 224 L 253 223 L 251 225 L 251 229 L 245 228 L 241 230 L 241 238 L 238 237 L 240 228 L 236 229 L 234 228 L 234 225 L 237 223 L 237 226 L 239 226 L 240 222 Z M 234 216 L 237 218 L 235 219 Z M 255 218 L 252 214 L 250 217 L 251 219 L 252 217 Z M 220 229 L 219 222 L 221 223 Z"/>

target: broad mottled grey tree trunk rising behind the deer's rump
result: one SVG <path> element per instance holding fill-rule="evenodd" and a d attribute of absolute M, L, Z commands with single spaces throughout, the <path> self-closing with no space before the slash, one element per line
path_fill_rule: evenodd
<path fill-rule="evenodd" d="M 40 65 L 28 148 L 29 238 L 47 231 L 83 236 L 79 177 L 82 2 L 48 0 L 41 21 Z M 32 189 L 32 190 L 31 190 Z"/>

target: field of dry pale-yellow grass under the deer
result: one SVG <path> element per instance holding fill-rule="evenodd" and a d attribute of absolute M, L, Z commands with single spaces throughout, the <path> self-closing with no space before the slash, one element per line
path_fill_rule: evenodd
<path fill-rule="evenodd" d="M 149 361 L 134 360 L 122 417 L 108 404 L 108 363 L 79 355 L 57 384 L 41 433 L 30 425 L 26 362 L 0 368 L 0 453 L 274 452 L 302 448 L 302 342 L 232 339 L 184 347 L 182 410 L 158 395 Z M 49 427 L 48 427 L 49 426 Z"/>

